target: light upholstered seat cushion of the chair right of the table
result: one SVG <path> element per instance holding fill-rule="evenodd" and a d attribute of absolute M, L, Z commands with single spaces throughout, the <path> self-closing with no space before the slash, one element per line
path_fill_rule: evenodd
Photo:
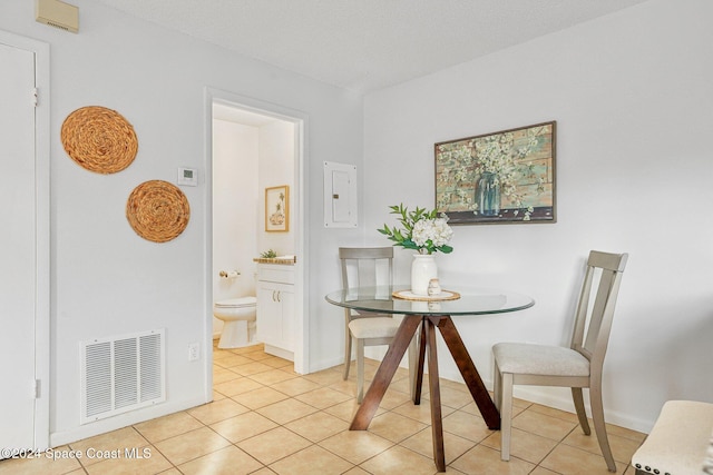
<path fill-rule="evenodd" d="M 589 360 L 570 348 L 498 343 L 492 354 L 504 373 L 519 375 L 589 376 Z"/>

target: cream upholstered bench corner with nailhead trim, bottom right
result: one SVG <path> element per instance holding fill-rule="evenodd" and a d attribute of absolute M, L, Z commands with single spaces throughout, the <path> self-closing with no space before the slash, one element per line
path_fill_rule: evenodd
<path fill-rule="evenodd" d="M 709 449 L 713 434 L 713 404 L 668 400 L 654 428 L 632 457 L 636 475 L 713 473 Z M 707 457 L 706 457 L 707 455 Z"/>

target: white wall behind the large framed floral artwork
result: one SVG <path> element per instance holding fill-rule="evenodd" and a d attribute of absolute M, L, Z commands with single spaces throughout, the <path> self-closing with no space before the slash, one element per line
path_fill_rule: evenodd
<path fill-rule="evenodd" d="M 446 288 L 505 287 L 537 301 L 457 319 L 488 382 L 494 343 L 567 342 L 589 249 L 627 251 L 604 368 L 609 422 L 648 429 L 666 399 L 713 402 L 711 18 L 707 0 L 652 0 L 367 96 L 372 245 L 395 224 L 388 205 L 433 207 L 433 144 L 557 120 L 558 222 L 457 227 L 455 251 L 438 257 Z M 406 279 L 410 253 L 397 255 Z M 456 377 L 449 357 L 441 364 Z M 529 396 L 570 407 L 567 390 Z"/>

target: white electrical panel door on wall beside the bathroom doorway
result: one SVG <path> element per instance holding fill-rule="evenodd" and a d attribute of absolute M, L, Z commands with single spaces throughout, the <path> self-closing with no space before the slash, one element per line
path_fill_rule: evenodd
<path fill-rule="evenodd" d="M 324 227 L 356 227 L 356 167 L 324 162 Z"/>

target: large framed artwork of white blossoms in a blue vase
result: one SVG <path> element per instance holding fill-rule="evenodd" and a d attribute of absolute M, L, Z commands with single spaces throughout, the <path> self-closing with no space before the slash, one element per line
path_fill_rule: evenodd
<path fill-rule="evenodd" d="M 555 222 L 556 121 L 436 144 L 449 224 Z"/>

